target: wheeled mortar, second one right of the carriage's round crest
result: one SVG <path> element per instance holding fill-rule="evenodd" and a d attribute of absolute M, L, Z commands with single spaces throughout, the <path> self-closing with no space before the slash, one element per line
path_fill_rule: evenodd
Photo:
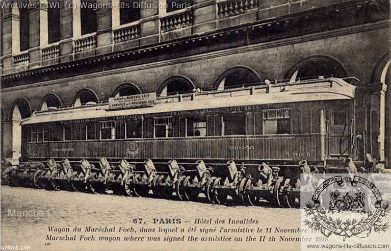
<path fill-rule="evenodd" d="M 152 192 L 157 194 L 161 198 L 171 198 L 173 192 L 176 190 L 177 183 L 180 179 L 185 178 L 182 172 L 185 170 L 183 167 L 179 167 L 176 160 L 170 160 L 168 162 L 169 172 L 167 174 L 157 175 L 152 180 Z"/>

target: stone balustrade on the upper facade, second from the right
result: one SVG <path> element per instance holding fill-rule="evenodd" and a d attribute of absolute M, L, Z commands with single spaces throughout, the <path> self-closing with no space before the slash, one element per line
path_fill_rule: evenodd
<path fill-rule="evenodd" d="M 161 32 L 168 32 L 193 25 L 193 10 L 160 18 Z"/>

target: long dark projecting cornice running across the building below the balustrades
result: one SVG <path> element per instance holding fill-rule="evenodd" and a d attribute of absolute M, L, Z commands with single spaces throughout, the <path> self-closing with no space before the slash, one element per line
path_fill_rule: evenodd
<path fill-rule="evenodd" d="M 369 9 L 375 13 L 368 16 Z M 157 64 L 229 55 L 243 49 L 256 50 L 385 27 L 390 27 L 389 17 L 374 3 L 364 2 L 355 6 L 345 3 L 13 73 L 2 76 L 1 87 L 9 89 L 34 83 L 59 83 L 65 78 L 85 78 L 86 74 L 104 76 L 114 70 L 119 73 Z M 94 73 L 96 69 L 100 71 Z"/>

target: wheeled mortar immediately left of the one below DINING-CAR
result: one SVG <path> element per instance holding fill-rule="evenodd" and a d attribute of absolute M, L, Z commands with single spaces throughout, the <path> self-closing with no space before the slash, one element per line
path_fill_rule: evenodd
<path fill-rule="evenodd" d="M 197 171 L 194 175 L 180 177 L 176 184 L 176 194 L 180 200 L 195 201 L 200 193 L 206 196 L 206 184 L 212 178 L 213 170 L 206 168 L 202 160 L 197 160 L 196 164 Z"/>

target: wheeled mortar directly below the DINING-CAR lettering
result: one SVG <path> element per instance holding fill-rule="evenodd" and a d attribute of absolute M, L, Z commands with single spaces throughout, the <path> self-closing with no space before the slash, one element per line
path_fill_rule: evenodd
<path fill-rule="evenodd" d="M 231 203 L 242 202 L 239 186 L 245 178 L 246 167 L 242 165 L 241 169 L 238 171 L 235 162 L 230 160 L 227 162 L 227 169 L 228 174 L 225 176 L 225 179 L 217 178 L 211 183 L 208 182 L 209 184 L 206 188 L 207 198 L 212 201 L 212 203 L 228 205 Z M 231 202 L 229 202 L 228 196 L 232 198 Z"/>

